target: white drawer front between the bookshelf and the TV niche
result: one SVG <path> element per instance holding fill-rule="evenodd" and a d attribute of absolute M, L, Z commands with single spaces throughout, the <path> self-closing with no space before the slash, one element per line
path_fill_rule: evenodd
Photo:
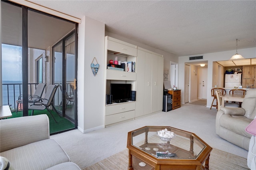
<path fill-rule="evenodd" d="M 107 69 L 107 79 L 136 81 L 136 73 Z"/>

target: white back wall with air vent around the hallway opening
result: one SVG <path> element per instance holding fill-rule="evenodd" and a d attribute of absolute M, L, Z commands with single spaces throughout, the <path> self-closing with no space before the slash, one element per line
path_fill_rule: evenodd
<path fill-rule="evenodd" d="M 212 71 L 213 71 L 213 61 L 224 61 L 229 60 L 236 51 L 222 51 L 216 53 L 206 53 L 198 54 L 203 55 L 204 59 L 198 59 L 196 61 L 208 61 L 208 80 L 207 80 L 207 106 L 210 107 L 212 104 L 211 89 L 212 89 Z M 245 59 L 256 57 L 256 47 L 239 49 L 239 54 L 241 54 Z M 197 56 L 197 55 L 195 55 Z M 191 56 L 181 56 L 179 57 L 179 89 L 181 89 L 181 102 L 184 104 L 184 77 L 185 77 L 185 63 L 190 62 L 189 57 Z"/>

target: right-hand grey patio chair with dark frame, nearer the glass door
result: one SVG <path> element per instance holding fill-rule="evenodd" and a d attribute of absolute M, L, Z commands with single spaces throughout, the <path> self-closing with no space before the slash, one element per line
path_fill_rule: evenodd
<path fill-rule="evenodd" d="M 57 113 L 55 107 L 52 104 L 52 100 L 54 99 L 54 95 L 57 88 L 58 88 L 58 85 L 49 85 L 46 90 L 44 98 L 37 98 L 34 101 L 28 103 L 28 110 L 32 110 L 31 116 L 34 114 L 34 110 L 42 111 L 44 109 L 46 109 L 52 115 L 52 112 L 50 111 L 50 108 L 49 108 L 50 106 L 52 106 L 54 111 Z M 52 118 L 57 123 L 53 115 L 52 115 Z"/>

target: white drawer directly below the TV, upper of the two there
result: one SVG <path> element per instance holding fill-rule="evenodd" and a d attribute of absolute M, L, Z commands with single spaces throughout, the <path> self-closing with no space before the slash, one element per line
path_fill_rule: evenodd
<path fill-rule="evenodd" d="M 116 113 L 135 110 L 135 102 L 126 102 L 122 104 L 106 105 L 106 116 Z"/>

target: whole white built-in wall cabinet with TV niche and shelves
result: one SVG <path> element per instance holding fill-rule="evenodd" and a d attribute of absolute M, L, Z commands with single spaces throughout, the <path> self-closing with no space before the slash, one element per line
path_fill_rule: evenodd
<path fill-rule="evenodd" d="M 135 72 L 107 69 L 110 59 L 134 61 Z M 109 36 L 105 37 L 105 126 L 162 111 L 163 70 L 162 55 Z M 136 101 L 106 105 L 110 83 L 130 83 L 136 91 Z"/>

